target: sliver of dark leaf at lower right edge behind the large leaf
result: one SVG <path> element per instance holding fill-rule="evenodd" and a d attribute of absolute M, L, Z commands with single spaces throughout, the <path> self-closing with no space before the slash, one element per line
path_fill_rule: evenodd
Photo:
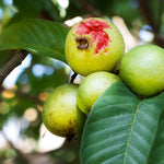
<path fill-rule="evenodd" d="M 164 112 L 159 122 L 157 133 L 148 163 L 164 164 Z"/>

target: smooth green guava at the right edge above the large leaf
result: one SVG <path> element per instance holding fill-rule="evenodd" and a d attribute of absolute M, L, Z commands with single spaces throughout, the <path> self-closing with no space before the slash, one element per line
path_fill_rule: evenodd
<path fill-rule="evenodd" d="M 130 49 L 121 60 L 119 77 L 138 95 L 160 93 L 164 89 L 164 49 L 155 45 Z"/>

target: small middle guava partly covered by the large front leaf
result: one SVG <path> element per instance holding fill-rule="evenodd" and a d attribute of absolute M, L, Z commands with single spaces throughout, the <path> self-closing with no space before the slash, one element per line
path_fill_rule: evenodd
<path fill-rule="evenodd" d="M 113 83 L 120 79 L 113 73 L 99 71 L 89 74 L 80 84 L 78 90 L 78 106 L 87 114 L 96 102 L 96 99 L 108 89 Z"/>

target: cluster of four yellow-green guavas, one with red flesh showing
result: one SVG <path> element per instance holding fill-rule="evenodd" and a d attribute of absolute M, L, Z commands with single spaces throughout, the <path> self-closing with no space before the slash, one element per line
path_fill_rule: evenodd
<path fill-rule="evenodd" d="M 79 85 L 58 86 L 44 104 L 43 121 L 57 136 L 77 134 L 79 109 L 83 115 L 89 114 L 96 99 L 115 82 L 122 80 L 142 97 L 164 89 L 164 50 L 155 45 L 142 45 L 125 55 L 122 36 L 109 21 L 91 17 L 75 24 L 65 48 L 69 66 L 85 78 Z M 116 74 L 114 70 L 119 62 L 119 74 Z"/>

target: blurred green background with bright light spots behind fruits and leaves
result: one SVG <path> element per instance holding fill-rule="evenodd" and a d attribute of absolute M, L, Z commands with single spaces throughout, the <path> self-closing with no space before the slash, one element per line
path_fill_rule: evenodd
<path fill-rule="evenodd" d="M 23 19 L 68 27 L 89 16 L 113 21 L 126 51 L 152 43 L 164 47 L 164 0 L 0 0 L 0 33 Z M 13 50 L 0 51 L 0 69 Z M 0 164 L 78 164 L 79 141 L 49 133 L 42 108 L 49 92 L 69 81 L 69 66 L 28 54 L 0 86 Z"/>

